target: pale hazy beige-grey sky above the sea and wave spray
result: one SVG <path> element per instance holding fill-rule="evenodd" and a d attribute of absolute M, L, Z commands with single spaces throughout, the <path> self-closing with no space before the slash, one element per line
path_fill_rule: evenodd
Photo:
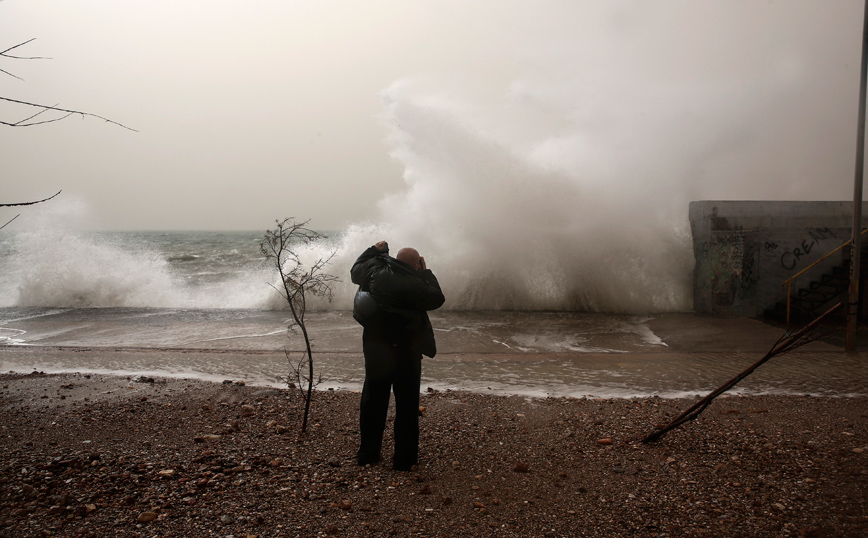
<path fill-rule="evenodd" d="M 863 7 L 5 0 L 0 50 L 36 38 L 13 53 L 51 59 L 0 58 L 23 79 L 0 73 L 0 95 L 138 132 L 78 117 L 0 126 L 0 199 L 63 189 L 107 229 L 264 229 L 284 216 L 343 228 L 408 189 L 437 189 L 414 176 L 436 170 L 414 168 L 427 151 L 414 141 L 440 144 L 439 159 L 461 142 L 417 136 L 419 123 L 395 112 L 412 102 L 564 181 L 611 185 L 604 205 L 635 190 L 635 178 L 620 183 L 627 174 L 679 206 L 846 200 Z M 0 105 L 4 121 L 29 113 Z M 478 170 L 463 170 L 473 182 Z"/>

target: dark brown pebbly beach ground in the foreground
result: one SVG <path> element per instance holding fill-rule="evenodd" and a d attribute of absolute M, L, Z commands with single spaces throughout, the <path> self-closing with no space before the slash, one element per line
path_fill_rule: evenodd
<path fill-rule="evenodd" d="M 868 400 L 422 396 L 409 473 L 353 462 L 359 395 L 0 376 L 0 536 L 868 536 Z M 386 447 L 390 449 L 391 438 Z"/>

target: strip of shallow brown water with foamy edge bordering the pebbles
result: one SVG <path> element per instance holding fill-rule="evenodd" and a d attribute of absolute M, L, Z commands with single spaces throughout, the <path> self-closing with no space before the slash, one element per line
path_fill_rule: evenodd
<path fill-rule="evenodd" d="M 689 318 L 688 321 L 694 320 Z M 729 320 L 668 320 L 665 350 L 645 352 L 479 352 L 446 350 L 425 359 L 422 388 L 533 397 L 664 398 L 707 394 L 763 356 L 767 327 Z M 724 330 L 726 329 L 726 330 Z M 735 334 L 750 345 L 732 345 Z M 750 331 L 755 331 L 751 333 Z M 757 334 L 756 332 L 760 334 Z M 726 350 L 729 343 L 731 350 Z M 358 342 L 356 342 L 358 344 Z M 815 343 L 775 358 L 739 383 L 733 394 L 868 397 L 868 353 L 848 354 Z M 98 346 L 0 346 L 0 372 L 145 375 L 208 382 L 241 380 L 281 388 L 289 373 L 283 351 Z M 321 389 L 360 390 L 361 351 L 315 353 Z"/>

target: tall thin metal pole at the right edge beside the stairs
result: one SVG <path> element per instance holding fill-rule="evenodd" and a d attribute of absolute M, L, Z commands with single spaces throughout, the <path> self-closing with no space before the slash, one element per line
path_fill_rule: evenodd
<path fill-rule="evenodd" d="M 865 80 L 868 77 L 868 0 L 862 26 L 862 69 L 859 74 L 859 121 L 856 136 L 856 174 L 853 181 L 853 242 L 850 245 L 850 294 L 847 301 L 847 351 L 856 351 L 859 315 L 859 276 L 862 257 L 862 175 L 865 168 Z"/>

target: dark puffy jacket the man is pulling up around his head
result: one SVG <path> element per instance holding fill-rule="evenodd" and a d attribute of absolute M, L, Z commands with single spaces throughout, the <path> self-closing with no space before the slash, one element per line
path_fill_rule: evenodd
<path fill-rule="evenodd" d="M 372 246 L 353 264 L 350 276 L 377 301 L 376 320 L 365 330 L 393 342 L 409 336 L 423 355 L 433 357 L 437 353 L 427 311 L 440 308 L 446 299 L 434 273 L 417 271 L 389 256 L 388 249 L 380 251 Z"/>

